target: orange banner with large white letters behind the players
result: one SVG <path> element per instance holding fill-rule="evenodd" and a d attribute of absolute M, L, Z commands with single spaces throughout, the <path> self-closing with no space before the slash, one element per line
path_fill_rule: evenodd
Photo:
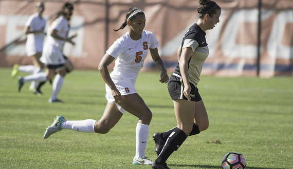
<path fill-rule="evenodd" d="M 43 16 L 48 19 L 67 1 L 44 2 Z M 258 1 L 215 2 L 222 8 L 222 14 L 220 23 L 207 31 L 210 54 L 202 74 L 257 76 L 260 56 L 260 77 L 293 76 L 293 1 L 261 1 L 260 36 Z M 121 26 L 130 7 L 138 7 L 147 18 L 145 30 L 156 35 L 160 56 L 172 72 L 177 65 L 176 52 L 182 36 L 198 19 L 196 6 L 194 0 L 77 1 L 69 31 L 69 35 L 78 34 L 74 39 L 76 46 L 66 44 L 64 54 L 69 56 L 76 69 L 97 69 L 106 49 L 128 30 L 126 27 L 114 32 L 113 28 Z M 23 29 L 33 10 L 32 1 L 0 1 L 0 67 L 32 63 L 25 53 Z M 50 22 L 48 19 L 47 25 Z M 19 40 L 7 47 L 15 39 Z M 154 68 L 152 58 L 148 56 L 143 70 Z"/>

